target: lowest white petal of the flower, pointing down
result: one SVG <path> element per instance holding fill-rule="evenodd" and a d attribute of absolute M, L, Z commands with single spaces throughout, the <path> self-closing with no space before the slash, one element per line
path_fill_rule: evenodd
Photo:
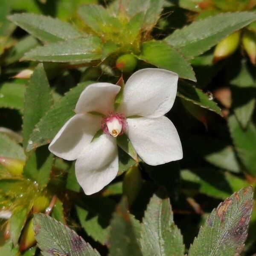
<path fill-rule="evenodd" d="M 116 140 L 102 134 L 93 140 L 76 160 L 76 178 L 84 193 L 91 195 L 103 189 L 118 172 L 118 153 Z"/>

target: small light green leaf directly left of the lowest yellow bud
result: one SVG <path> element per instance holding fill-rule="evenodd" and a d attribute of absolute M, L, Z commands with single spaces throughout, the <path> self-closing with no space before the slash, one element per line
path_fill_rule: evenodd
<path fill-rule="evenodd" d="M 26 223 L 29 210 L 30 209 L 28 209 L 26 205 L 19 206 L 12 212 L 12 216 L 10 218 L 10 233 L 14 245 L 17 245 L 18 243 L 20 233 Z"/>

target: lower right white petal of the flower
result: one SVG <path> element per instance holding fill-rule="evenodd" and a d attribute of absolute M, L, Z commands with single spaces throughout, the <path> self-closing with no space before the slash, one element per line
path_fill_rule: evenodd
<path fill-rule="evenodd" d="M 145 163 L 155 166 L 182 159 L 180 137 L 166 116 L 128 118 L 127 122 L 125 133 Z"/>

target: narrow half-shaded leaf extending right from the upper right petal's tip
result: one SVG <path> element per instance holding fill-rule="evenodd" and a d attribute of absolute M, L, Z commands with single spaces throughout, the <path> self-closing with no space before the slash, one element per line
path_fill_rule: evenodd
<path fill-rule="evenodd" d="M 179 82 L 177 96 L 222 116 L 221 109 L 218 105 L 212 99 L 209 99 L 209 96 L 201 89 L 189 83 L 184 81 Z"/>

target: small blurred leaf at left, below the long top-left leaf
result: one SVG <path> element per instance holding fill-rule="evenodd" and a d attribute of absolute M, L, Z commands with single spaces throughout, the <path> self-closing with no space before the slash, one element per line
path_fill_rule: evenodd
<path fill-rule="evenodd" d="M 38 43 L 38 40 L 33 38 L 31 35 L 23 37 L 7 53 L 4 63 L 9 65 L 9 64 L 12 64 L 12 63 L 18 61 L 21 57 L 23 57 L 25 52 L 28 52 L 29 50 L 31 50 L 39 45 L 40 44 Z"/>

